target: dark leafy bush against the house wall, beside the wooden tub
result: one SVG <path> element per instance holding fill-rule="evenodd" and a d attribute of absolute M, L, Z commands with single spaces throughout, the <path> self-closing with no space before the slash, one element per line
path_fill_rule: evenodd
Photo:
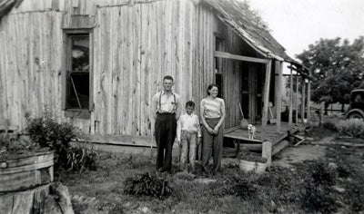
<path fill-rule="evenodd" d="M 43 117 L 26 119 L 30 139 L 55 151 L 55 170 L 95 170 L 96 152 L 70 145 L 72 139 L 85 138 L 79 129 L 68 122 L 57 123 L 46 112 Z"/>

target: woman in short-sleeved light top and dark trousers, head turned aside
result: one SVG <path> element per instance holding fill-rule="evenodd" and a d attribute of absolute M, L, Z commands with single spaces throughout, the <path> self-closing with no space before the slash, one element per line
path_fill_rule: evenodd
<path fill-rule="evenodd" d="M 220 170 L 222 159 L 222 127 L 225 120 L 225 102 L 217 97 L 218 87 L 216 84 L 210 84 L 207 87 L 207 98 L 202 99 L 200 104 L 200 113 L 202 121 L 202 167 L 208 172 L 207 165 L 211 153 L 214 160 L 213 174 Z"/>

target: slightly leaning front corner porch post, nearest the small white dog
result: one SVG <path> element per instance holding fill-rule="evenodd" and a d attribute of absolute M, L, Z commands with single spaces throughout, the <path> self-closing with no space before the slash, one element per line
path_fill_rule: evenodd
<path fill-rule="evenodd" d="M 268 105 L 269 105 L 269 85 L 270 85 L 270 71 L 272 66 L 272 60 L 266 65 L 266 80 L 264 83 L 264 93 L 263 93 L 263 112 L 262 112 L 262 131 L 260 135 L 260 139 L 264 141 L 265 131 L 267 129 L 267 122 L 268 122 Z"/>

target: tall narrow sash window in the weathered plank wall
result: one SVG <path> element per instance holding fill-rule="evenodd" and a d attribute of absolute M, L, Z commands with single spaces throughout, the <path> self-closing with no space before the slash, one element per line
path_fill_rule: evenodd
<path fill-rule="evenodd" d="M 91 110 L 91 52 L 90 33 L 66 32 L 66 112 Z M 80 116 L 80 114 L 77 114 Z M 66 114 L 66 116 L 77 116 Z"/>

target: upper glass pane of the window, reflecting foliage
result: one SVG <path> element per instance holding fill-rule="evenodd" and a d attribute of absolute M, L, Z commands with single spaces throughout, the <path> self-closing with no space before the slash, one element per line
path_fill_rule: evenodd
<path fill-rule="evenodd" d="M 89 37 L 74 36 L 72 37 L 72 71 L 89 72 Z"/>

